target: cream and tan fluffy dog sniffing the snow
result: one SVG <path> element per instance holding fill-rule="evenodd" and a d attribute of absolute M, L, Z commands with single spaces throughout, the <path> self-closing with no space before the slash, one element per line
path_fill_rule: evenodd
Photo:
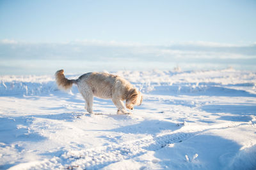
<path fill-rule="evenodd" d="M 92 114 L 93 96 L 102 99 L 112 99 L 118 115 L 131 114 L 125 110 L 133 110 L 134 106 L 140 106 L 143 96 L 131 83 L 120 76 L 109 73 L 85 73 L 77 80 L 68 80 L 61 69 L 55 73 L 58 89 L 71 89 L 76 84 L 85 101 L 85 110 Z M 124 106 L 125 101 L 125 106 Z"/>

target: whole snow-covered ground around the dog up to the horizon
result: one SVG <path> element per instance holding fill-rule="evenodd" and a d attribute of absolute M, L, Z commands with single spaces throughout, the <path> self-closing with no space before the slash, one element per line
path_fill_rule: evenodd
<path fill-rule="evenodd" d="M 0 76 L 0 169 L 256 169 L 255 72 L 114 74 L 143 92 L 132 115 L 97 98 L 86 114 L 53 75 Z"/>

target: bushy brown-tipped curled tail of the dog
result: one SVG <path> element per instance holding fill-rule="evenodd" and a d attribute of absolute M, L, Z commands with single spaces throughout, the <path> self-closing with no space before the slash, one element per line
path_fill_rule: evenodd
<path fill-rule="evenodd" d="M 77 84 L 76 80 L 68 80 L 64 75 L 64 70 L 60 69 L 55 73 L 56 83 L 58 88 L 61 90 L 68 90 L 71 89 L 73 83 Z"/>

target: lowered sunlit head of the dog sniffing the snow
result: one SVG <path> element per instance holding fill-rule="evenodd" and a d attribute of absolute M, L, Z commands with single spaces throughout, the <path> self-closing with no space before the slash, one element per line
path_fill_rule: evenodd
<path fill-rule="evenodd" d="M 133 106 L 140 106 L 143 96 L 137 89 L 132 89 L 128 92 L 125 106 L 129 110 L 133 110 Z"/>

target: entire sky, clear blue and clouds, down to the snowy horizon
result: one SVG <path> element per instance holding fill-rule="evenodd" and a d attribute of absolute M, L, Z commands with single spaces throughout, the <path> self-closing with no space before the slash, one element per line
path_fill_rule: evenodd
<path fill-rule="evenodd" d="M 215 56 L 246 59 L 244 63 L 252 64 L 255 43 L 254 0 L 0 1 L 0 74 L 15 74 L 10 72 L 13 68 L 20 69 L 20 73 L 51 73 L 56 67 L 53 60 L 64 62 L 64 59 L 83 60 L 84 64 L 92 59 L 100 60 L 103 63 L 99 64 L 99 71 L 104 69 L 106 60 L 124 58 L 130 59 L 131 65 L 133 60 L 140 60 L 141 64 L 152 62 L 152 66 L 131 67 L 118 62 L 120 67 L 115 69 L 159 68 L 161 64 L 154 65 L 154 62 L 174 60 L 169 63 L 171 69 L 182 65 L 188 56 L 195 63 L 201 57 L 211 64 L 214 59 L 209 61 L 209 58 Z M 28 72 L 28 60 L 34 70 L 39 60 L 47 63 L 51 60 L 46 65 L 52 67 L 49 72 L 42 69 Z M 22 62 L 24 66 L 19 66 Z M 220 61 L 221 67 L 228 66 L 224 62 Z M 63 66 L 67 67 L 67 63 Z M 239 63 L 241 60 L 234 61 L 236 68 Z M 95 66 L 97 63 L 90 69 Z M 70 70 L 76 72 L 76 66 Z"/>

